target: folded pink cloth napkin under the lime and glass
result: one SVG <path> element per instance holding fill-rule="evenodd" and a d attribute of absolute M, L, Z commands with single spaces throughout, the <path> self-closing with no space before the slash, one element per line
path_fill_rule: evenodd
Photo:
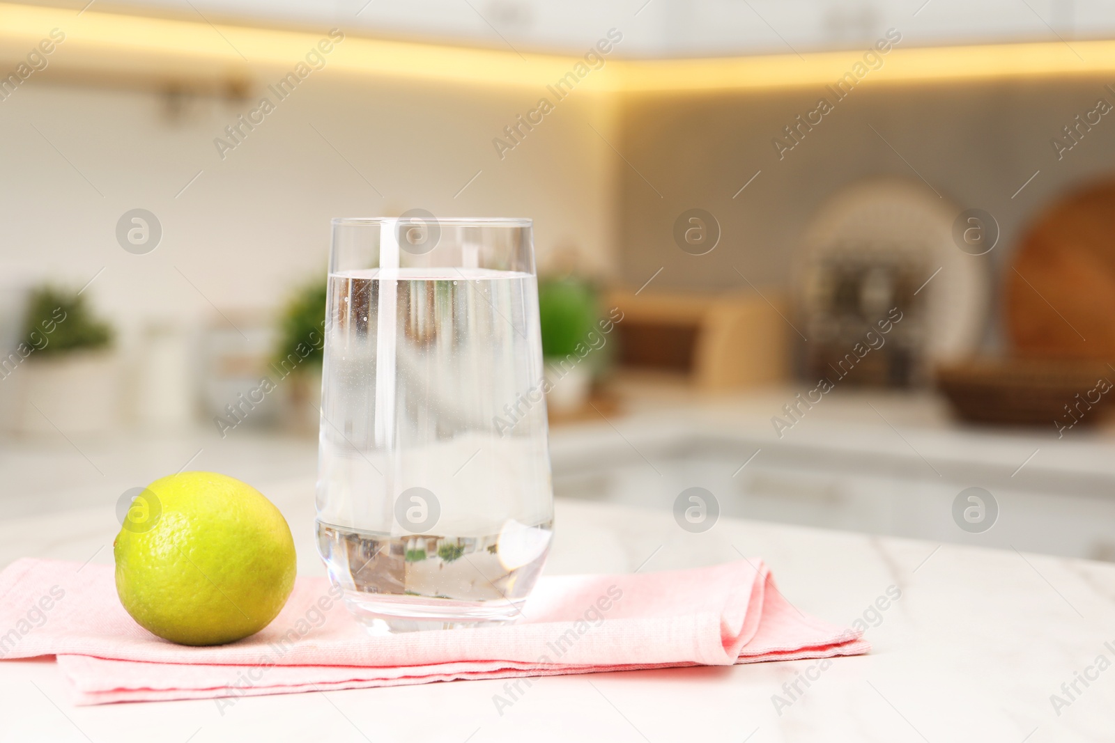
<path fill-rule="evenodd" d="M 762 560 L 646 575 L 543 577 L 511 626 L 371 636 L 324 578 L 230 645 L 186 647 L 137 625 L 112 566 L 21 559 L 0 573 L 0 658 L 57 656 L 77 704 L 235 697 L 459 678 L 731 665 L 866 653 L 807 617 Z"/>

